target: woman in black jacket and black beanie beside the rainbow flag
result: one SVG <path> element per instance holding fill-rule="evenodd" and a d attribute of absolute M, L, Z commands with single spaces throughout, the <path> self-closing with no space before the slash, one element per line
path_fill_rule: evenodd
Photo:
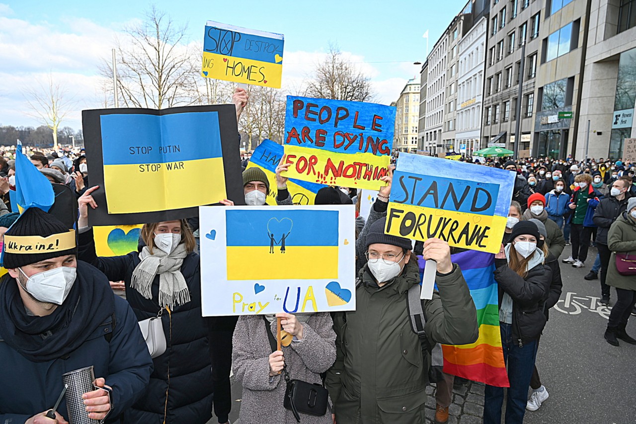
<path fill-rule="evenodd" d="M 512 242 L 495 255 L 495 280 L 499 285 L 499 327 L 504 361 L 508 363 L 506 423 L 523 423 L 528 386 L 534 369 L 537 339 L 546 325 L 543 307 L 552 279 L 537 248 L 539 229 L 522 221 L 513 227 Z M 504 389 L 486 386 L 483 422 L 501 423 Z"/>

